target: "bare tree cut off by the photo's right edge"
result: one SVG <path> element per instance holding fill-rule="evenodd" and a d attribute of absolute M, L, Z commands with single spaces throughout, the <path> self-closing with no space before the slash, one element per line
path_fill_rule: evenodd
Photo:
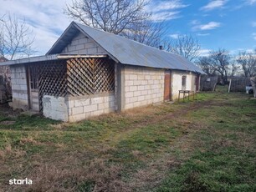
<path fill-rule="evenodd" d="M 256 76 L 256 48 L 253 53 L 239 53 L 237 62 L 243 68 L 243 73 L 245 77 Z"/>

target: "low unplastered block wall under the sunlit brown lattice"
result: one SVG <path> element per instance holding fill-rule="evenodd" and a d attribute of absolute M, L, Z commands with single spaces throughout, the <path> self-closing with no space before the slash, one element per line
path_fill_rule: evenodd
<path fill-rule="evenodd" d="M 95 95 L 69 97 L 69 122 L 108 114 L 115 111 L 115 93 L 98 93 Z"/>

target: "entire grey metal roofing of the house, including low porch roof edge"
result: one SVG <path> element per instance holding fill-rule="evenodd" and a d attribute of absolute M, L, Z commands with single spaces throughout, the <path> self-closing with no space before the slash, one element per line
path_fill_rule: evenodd
<path fill-rule="evenodd" d="M 200 68 L 183 58 L 180 55 L 169 53 L 158 48 L 152 48 L 145 44 L 138 43 L 128 38 L 115 35 L 113 33 L 106 33 L 95 28 L 90 28 L 79 23 L 70 23 L 60 38 L 50 48 L 45 56 L 23 58 L 13 61 L 1 63 L 0 65 L 32 63 L 45 60 L 54 60 L 59 53 L 72 41 L 72 39 L 79 33 L 84 33 L 89 36 L 100 47 L 104 48 L 110 57 L 115 61 L 123 64 L 145 66 L 151 68 L 170 68 L 185 71 L 192 71 L 203 73 Z"/>

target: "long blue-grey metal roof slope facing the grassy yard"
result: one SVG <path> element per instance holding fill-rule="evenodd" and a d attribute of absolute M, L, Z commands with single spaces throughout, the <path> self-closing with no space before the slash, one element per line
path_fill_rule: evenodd
<path fill-rule="evenodd" d="M 128 38 L 106 33 L 79 23 L 77 26 L 84 35 L 90 36 L 120 63 L 151 68 L 171 68 L 203 73 L 200 68 L 180 55 L 152 48 Z"/>

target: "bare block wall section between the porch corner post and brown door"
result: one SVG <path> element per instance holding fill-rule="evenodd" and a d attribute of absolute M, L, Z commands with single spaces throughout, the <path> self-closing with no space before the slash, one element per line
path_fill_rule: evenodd
<path fill-rule="evenodd" d="M 163 101 L 164 69 L 125 66 L 124 109 Z"/>

